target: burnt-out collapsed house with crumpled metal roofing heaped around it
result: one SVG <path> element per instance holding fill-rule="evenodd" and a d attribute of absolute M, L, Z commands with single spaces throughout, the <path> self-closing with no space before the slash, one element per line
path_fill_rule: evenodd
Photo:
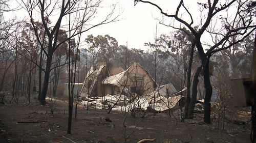
<path fill-rule="evenodd" d="M 114 67 L 113 74 L 110 74 L 111 68 L 108 69 L 106 63 L 91 67 L 80 92 L 85 100 L 81 102 L 84 106 L 117 111 L 150 109 L 157 112 L 172 109 L 176 105 L 183 106 L 184 96 L 181 94 L 186 91 L 186 87 L 177 92 L 173 84 L 168 83 L 154 91 L 154 79 L 139 63 L 133 63 L 126 70 Z"/>

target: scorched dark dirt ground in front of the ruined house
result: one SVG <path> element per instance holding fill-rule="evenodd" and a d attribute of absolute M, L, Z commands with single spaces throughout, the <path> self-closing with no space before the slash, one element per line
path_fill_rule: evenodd
<path fill-rule="evenodd" d="M 82 105 L 77 119 L 73 118 L 72 134 L 68 135 L 67 100 L 56 100 L 53 114 L 49 113 L 50 104 L 41 106 L 36 99 L 32 99 L 30 105 L 23 98 L 18 104 L 9 104 L 9 100 L 6 97 L 6 104 L 0 105 L 0 142 L 124 142 L 124 138 L 127 138 L 126 142 L 138 142 L 144 138 L 156 138 L 155 142 L 165 143 L 250 142 L 251 122 L 243 125 L 226 123 L 224 130 L 217 130 L 214 129 L 215 123 L 210 126 L 203 124 L 203 115 L 200 114 L 193 121 L 181 123 L 166 113 L 157 113 L 155 117 L 143 120 L 133 118 L 129 113 L 123 124 L 124 112 L 108 114 L 105 110 L 86 110 Z M 249 117 L 242 119 L 250 120 Z"/>

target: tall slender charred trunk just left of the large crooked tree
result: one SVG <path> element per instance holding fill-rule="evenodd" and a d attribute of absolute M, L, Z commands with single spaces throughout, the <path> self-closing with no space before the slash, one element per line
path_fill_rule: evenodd
<path fill-rule="evenodd" d="M 191 50 L 190 50 L 190 56 L 189 56 L 189 63 L 188 63 L 188 71 L 187 71 L 187 97 L 185 102 L 185 110 L 184 110 L 184 118 L 186 119 L 188 117 L 188 106 L 190 103 L 190 78 L 191 78 L 191 67 L 193 63 L 193 56 L 194 56 L 194 48 L 195 48 L 195 42 L 192 43 Z"/>

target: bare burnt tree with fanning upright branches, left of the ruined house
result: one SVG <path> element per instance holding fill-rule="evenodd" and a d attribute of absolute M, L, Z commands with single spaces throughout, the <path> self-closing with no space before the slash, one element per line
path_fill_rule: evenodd
<path fill-rule="evenodd" d="M 44 67 L 44 83 L 40 93 L 40 104 L 46 103 L 46 95 L 48 91 L 50 72 L 52 68 L 52 60 L 54 52 L 59 48 L 62 43 L 69 41 L 79 34 L 89 31 L 91 28 L 96 26 L 110 23 L 115 21 L 118 17 L 115 13 L 115 5 L 108 7 L 108 12 L 104 12 L 100 17 L 96 17 L 99 14 L 99 8 L 101 7 L 101 0 L 93 1 L 81 1 L 81 0 L 58 0 L 54 2 L 48 2 L 45 0 L 23 0 L 22 5 L 28 12 L 30 22 L 33 26 L 37 42 L 40 45 L 42 52 L 46 55 L 46 66 Z M 109 10 L 110 9 L 110 10 Z M 71 14 L 71 28 L 68 28 L 69 14 Z M 45 46 L 43 41 L 40 40 L 39 34 L 37 33 L 36 26 L 33 23 L 33 19 L 38 19 L 40 15 L 40 22 L 42 23 L 42 29 L 46 33 L 46 40 L 48 46 Z M 56 20 L 55 20 L 56 19 Z M 50 22 L 51 21 L 51 22 Z M 70 33 L 70 37 L 63 41 L 58 41 L 58 35 L 61 28 L 67 28 L 66 33 Z M 62 66 L 62 65 L 60 65 Z"/>

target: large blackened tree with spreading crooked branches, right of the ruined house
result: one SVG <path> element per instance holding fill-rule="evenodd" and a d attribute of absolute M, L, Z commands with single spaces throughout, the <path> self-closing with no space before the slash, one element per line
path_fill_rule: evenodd
<path fill-rule="evenodd" d="M 248 7 L 251 1 L 233 0 L 224 1 L 223 4 L 218 0 L 208 0 L 205 4 L 198 3 L 200 7 L 199 16 L 193 15 L 188 7 L 185 6 L 183 0 L 179 1 L 176 11 L 173 14 L 165 12 L 167 10 L 163 9 L 164 6 L 157 4 L 157 2 L 153 3 L 151 1 L 141 0 L 134 0 L 134 2 L 135 6 L 138 2 L 150 4 L 160 10 L 164 18 L 170 18 L 170 20 L 172 20 L 169 22 L 171 24 L 166 24 L 164 19 L 160 20 L 161 24 L 180 30 L 182 30 L 182 26 L 185 26 L 193 34 L 203 70 L 205 88 L 204 122 L 210 124 L 210 100 L 212 95 L 209 73 L 210 56 L 217 51 L 227 49 L 243 41 L 255 30 L 256 26 L 253 23 L 255 15 L 251 12 L 251 7 Z M 199 19 L 199 26 L 194 24 L 194 20 L 197 18 Z M 223 31 L 224 29 L 227 31 Z M 214 38 L 218 40 L 217 42 L 209 44 L 207 47 L 209 49 L 205 49 L 203 46 L 203 38 L 207 36 L 207 34 L 215 35 Z M 230 39 L 234 36 L 238 36 L 239 38 L 236 41 L 230 42 Z"/>

